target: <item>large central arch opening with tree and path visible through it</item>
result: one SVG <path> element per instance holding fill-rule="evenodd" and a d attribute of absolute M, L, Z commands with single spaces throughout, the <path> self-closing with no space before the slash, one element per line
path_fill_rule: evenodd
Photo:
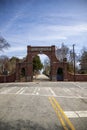
<path fill-rule="evenodd" d="M 41 68 L 35 69 L 35 58 L 39 57 Z M 38 63 L 36 63 L 38 66 Z M 38 67 L 37 67 L 38 68 Z M 37 54 L 33 57 L 33 81 L 49 81 L 50 80 L 50 59 L 45 54 Z"/>

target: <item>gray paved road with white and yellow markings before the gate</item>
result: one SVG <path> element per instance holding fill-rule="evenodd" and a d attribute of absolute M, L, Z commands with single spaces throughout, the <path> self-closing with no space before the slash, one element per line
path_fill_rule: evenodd
<path fill-rule="evenodd" d="M 87 82 L 0 84 L 0 130 L 86 130 Z"/>

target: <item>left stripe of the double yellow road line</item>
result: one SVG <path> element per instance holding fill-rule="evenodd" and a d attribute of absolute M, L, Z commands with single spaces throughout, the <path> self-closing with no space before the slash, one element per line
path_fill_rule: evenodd
<path fill-rule="evenodd" d="M 68 130 L 67 127 L 66 127 L 65 122 L 63 121 L 63 119 L 62 119 L 62 117 L 61 117 L 61 114 L 58 112 L 58 110 L 57 110 L 55 104 L 53 103 L 53 101 L 52 101 L 52 99 L 51 99 L 50 97 L 49 97 L 49 101 L 50 101 L 50 103 L 52 104 L 52 107 L 54 108 L 54 110 L 55 110 L 55 112 L 56 112 L 56 114 L 57 114 L 57 116 L 58 116 L 58 119 L 60 120 L 60 122 L 61 122 L 61 124 L 62 124 L 64 130 Z"/>

